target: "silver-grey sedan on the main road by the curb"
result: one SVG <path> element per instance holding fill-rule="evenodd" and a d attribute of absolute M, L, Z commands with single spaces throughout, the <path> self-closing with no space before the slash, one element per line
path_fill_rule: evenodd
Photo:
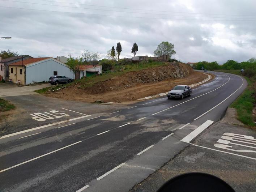
<path fill-rule="evenodd" d="M 191 96 L 192 89 L 187 85 L 177 85 L 171 91 L 168 92 L 168 99 L 171 98 L 181 98 L 183 99 L 186 96 Z"/>

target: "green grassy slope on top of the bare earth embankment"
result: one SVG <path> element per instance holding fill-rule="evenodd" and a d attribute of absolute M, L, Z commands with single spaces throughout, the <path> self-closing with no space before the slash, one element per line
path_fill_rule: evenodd
<path fill-rule="evenodd" d="M 158 62 L 154 61 L 154 62 L 151 62 L 151 63 L 149 63 L 149 62 L 140 62 L 138 64 L 128 64 L 128 65 L 125 65 L 125 66 L 115 66 L 116 71 L 114 71 L 114 72 L 103 71 L 100 76 L 90 76 L 90 77 L 82 78 L 80 80 L 73 81 L 70 84 L 54 85 L 54 86 L 51 86 L 51 87 L 35 90 L 35 92 L 37 92 L 37 93 L 46 93 L 48 90 L 56 90 L 56 89 L 59 89 L 63 86 L 68 87 L 68 86 L 72 86 L 72 85 L 75 85 L 75 84 L 79 84 L 78 89 L 79 88 L 81 89 L 81 88 L 91 87 L 99 81 L 106 81 L 110 78 L 120 76 L 120 75 L 123 75 L 123 74 L 131 72 L 131 71 L 140 71 L 140 70 L 143 70 L 143 69 L 149 69 L 149 68 L 164 66 L 164 65 L 168 65 L 168 63 L 163 63 L 163 62 L 160 62 L 160 61 L 158 61 Z M 121 70 L 120 70 L 120 68 L 121 68 Z"/>

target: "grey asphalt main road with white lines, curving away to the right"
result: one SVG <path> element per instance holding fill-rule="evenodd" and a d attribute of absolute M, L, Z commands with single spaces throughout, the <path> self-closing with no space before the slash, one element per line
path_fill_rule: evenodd
<path fill-rule="evenodd" d="M 20 132 L 0 137 L 0 191 L 128 191 L 191 145 L 200 134 L 188 136 L 193 130 L 221 119 L 247 86 L 242 77 L 212 73 L 214 80 L 183 100 L 161 97 L 97 113 L 75 102 L 38 105 L 42 111 L 28 112 Z M 35 103 L 42 96 L 27 97 Z"/>

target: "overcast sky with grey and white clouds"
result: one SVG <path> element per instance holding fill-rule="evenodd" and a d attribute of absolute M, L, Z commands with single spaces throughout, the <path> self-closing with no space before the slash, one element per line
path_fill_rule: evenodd
<path fill-rule="evenodd" d="M 68 3 L 72 2 L 72 3 Z M 33 57 L 153 55 L 162 41 L 183 62 L 256 57 L 255 0 L 0 0 L 0 50 Z"/>

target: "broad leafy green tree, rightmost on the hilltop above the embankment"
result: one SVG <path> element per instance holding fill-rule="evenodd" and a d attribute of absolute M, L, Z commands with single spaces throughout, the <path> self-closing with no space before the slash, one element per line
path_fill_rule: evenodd
<path fill-rule="evenodd" d="M 156 57 L 167 55 L 167 58 L 171 58 L 174 54 L 176 54 L 176 51 L 174 51 L 174 44 L 171 44 L 168 41 L 162 41 L 154 51 L 154 56 Z"/>

